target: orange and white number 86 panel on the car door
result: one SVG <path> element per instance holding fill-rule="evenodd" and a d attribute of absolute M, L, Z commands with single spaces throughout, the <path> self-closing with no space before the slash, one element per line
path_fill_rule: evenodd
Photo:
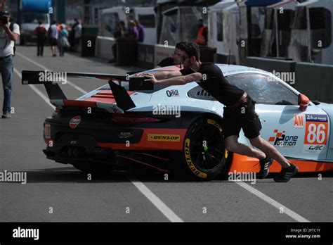
<path fill-rule="evenodd" d="M 306 114 L 304 153 L 320 153 L 327 143 L 327 115 Z"/>

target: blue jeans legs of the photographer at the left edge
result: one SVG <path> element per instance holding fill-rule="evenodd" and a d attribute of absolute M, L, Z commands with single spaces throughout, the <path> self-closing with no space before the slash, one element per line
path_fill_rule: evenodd
<path fill-rule="evenodd" d="M 4 114 L 11 113 L 11 88 L 13 80 L 13 61 L 11 57 L 6 60 L 0 61 L 1 63 L 1 77 L 4 88 L 4 105 L 2 112 Z"/>

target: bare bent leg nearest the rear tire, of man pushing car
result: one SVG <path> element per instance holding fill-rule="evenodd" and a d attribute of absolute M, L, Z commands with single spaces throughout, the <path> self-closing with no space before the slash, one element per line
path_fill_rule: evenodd
<path fill-rule="evenodd" d="M 226 139 L 224 139 L 224 144 L 228 151 L 232 151 L 240 155 L 258 158 L 259 160 L 263 160 L 266 157 L 265 153 L 257 151 L 256 149 L 252 149 L 245 144 L 239 143 L 237 135 L 231 135 L 229 137 L 226 137 Z"/>

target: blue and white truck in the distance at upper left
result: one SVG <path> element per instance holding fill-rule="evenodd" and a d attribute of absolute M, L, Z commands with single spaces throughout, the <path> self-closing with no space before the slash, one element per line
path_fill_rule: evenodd
<path fill-rule="evenodd" d="M 18 24 L 20 25 L 20 44 L 34 44 L 37 37 L 34 29 L 39 25 L 39 20 L 46 30 L 51 25 L 53 13 L 52 0 L 20 0 L 18 11 Z"/>

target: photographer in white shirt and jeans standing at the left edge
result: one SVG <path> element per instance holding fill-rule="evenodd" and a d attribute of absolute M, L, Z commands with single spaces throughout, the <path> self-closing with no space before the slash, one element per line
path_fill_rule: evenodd
<path fill-rule="evenodd" d="M 2 118 L 11 118 L 11 84 L 13 81 L 13 60 L 15 41 L 20 35 L 20 27 L 10 23 L 7 11 L 0 11 L 0 73 L 4 87 Z"/>

